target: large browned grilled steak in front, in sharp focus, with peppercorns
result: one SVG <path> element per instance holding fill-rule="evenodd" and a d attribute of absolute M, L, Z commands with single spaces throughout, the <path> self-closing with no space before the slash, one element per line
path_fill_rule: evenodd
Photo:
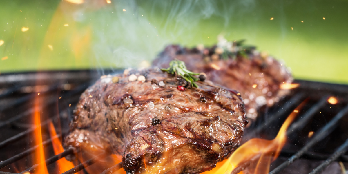
<path fill-rule="evenodd" d="M 239 145 L 247 120 L 233 91 L 209 81 L 182 91 L 160 70 L 130 73 L 104 76 L 81 95 L 65 148 L 120 155 L 128 174 L 194 174 Z"/>

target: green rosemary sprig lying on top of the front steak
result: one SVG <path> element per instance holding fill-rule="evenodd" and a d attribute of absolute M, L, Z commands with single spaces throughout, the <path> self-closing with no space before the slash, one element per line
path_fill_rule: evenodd
<path fill-rule="evenodd" d="M 194 73 L 187 70 L 185 63 L 183 61 L 173 60 L 169 63 L 169 68 L 167 69 L 163 68 L 161 70 L 170 74 L 176 73 L 177 75 L 181 76 L 186 81 L 191 82 L 191 86 L 198 88 L 198 85 L 195 83 L 195 81 L 198 81 L 199 78 L 196 78 L 193 76 L 199 75 L 199 73 Z"/>

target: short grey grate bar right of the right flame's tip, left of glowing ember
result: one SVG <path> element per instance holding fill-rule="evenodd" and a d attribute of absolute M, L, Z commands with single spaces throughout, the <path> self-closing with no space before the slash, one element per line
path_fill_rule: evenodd
<path fill-rule="evenodd" d="M 322 97 L 319 102 L 317 102 L 306 113 L 303 114 L 304 115 L 303 117 L 301 117 L 298 121 L 291 124 L 286 134 L 290 135 L 294 133 L 296 130 L 300 130 L 304 126 L 306 126 L 307 122 L 309 121 L 310 118 L 313 117 L 315 112 L 317 112 L 320 108 L 322 108 L 326 104 L 327 97 L 329 96 Z"/>

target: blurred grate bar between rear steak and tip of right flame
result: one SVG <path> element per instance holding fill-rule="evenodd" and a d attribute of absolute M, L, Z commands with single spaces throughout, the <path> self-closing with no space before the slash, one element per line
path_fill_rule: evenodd
<path fill-rule="evenodd" d="M 250 135 L 255 135 L 256 133 L 260 132 L 264 128 L 268 127 L 273 121 L 279 119 L 281 116 L 284 116 L 285 112 L 293 108 L 297 103 L 301 101 L 303 98 L 304 93 L 297 93 L 293 97 L 288 100 L 282 108 L 279 108 L 278 111 L 276 111 L 273 116 L 266 121 L 266 123 L 262 124 L 261 126 L 258 126 L 255 130 L 253 130 Z"/>

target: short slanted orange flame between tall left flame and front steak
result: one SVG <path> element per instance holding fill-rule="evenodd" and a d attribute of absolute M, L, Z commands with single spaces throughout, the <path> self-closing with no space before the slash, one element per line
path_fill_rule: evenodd
<path fill-rule="evenodd" d="M 57 133 L 52 122 L 49 122 L 48 127 L 49 127 L 48 129 L 49 135 L 52 138 L 52 146 L 53 146 L 54 154 L 58 155 L 59 153 L 64 152 L 62 143 L 56 136 Z M 63 173 L 73 168 L 74 164 L 71 161 L 66 160 L 65 157 L 63 157 L 57 161 L 57 166 L 58 166 L 59 173 Z"/>

